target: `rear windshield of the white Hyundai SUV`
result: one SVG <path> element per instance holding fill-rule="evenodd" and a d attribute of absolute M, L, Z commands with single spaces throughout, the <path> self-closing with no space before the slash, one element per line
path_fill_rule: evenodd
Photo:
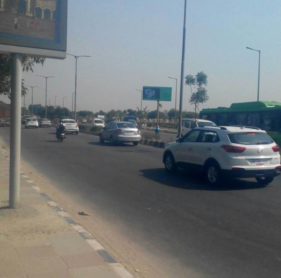
<path fill-rule="evenodd" d="M 233 133 L 233 134 L 228 134 L 228 137 L 230 142 L 234 144 L 263 145 L 263 144 L 273 143 L 273 140 L 266 133 L 255 133 L 255 132 Z"/>

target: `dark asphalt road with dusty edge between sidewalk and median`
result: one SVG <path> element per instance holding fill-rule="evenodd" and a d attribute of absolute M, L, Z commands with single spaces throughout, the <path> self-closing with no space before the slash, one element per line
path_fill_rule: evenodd
<path fill-rule="evenodd" d="M 267 187 L 251 179 L 211 188 L 183 171 L 166 174 L 161 149 L 100 145 L 86 134 L 58 143 L 54 131 L 22 129 L 23 158 L 112 229 L 121 223 L 168 276 L 280 277 L 280 177 Z M 8 142 L 9 128 L 0 135 Z"/>

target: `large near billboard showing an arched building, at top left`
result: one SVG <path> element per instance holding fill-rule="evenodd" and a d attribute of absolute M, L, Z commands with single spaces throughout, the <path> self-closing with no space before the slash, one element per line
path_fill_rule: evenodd
<path fill-rule="evenodd" d="M 65 58 L 67 0 L 0 0 L 0 51 Z"/>

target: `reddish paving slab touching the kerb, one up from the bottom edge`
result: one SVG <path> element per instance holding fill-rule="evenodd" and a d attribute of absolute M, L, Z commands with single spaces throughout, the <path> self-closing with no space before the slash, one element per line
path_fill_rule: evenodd
<path fill-rule="evenodd" d="M 96 252 L 65 255 L 62 259 L 69 268 L 106 265 Z"/>

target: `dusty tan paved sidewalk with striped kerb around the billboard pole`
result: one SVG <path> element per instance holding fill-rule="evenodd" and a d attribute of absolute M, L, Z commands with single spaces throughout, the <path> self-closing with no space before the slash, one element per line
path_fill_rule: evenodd
<path fill-rule="evenodd" d="M 0 278 L 133 277 L 21 170 L 21 207 L 9 209 L 9 154 L 1 147 Z"/>

